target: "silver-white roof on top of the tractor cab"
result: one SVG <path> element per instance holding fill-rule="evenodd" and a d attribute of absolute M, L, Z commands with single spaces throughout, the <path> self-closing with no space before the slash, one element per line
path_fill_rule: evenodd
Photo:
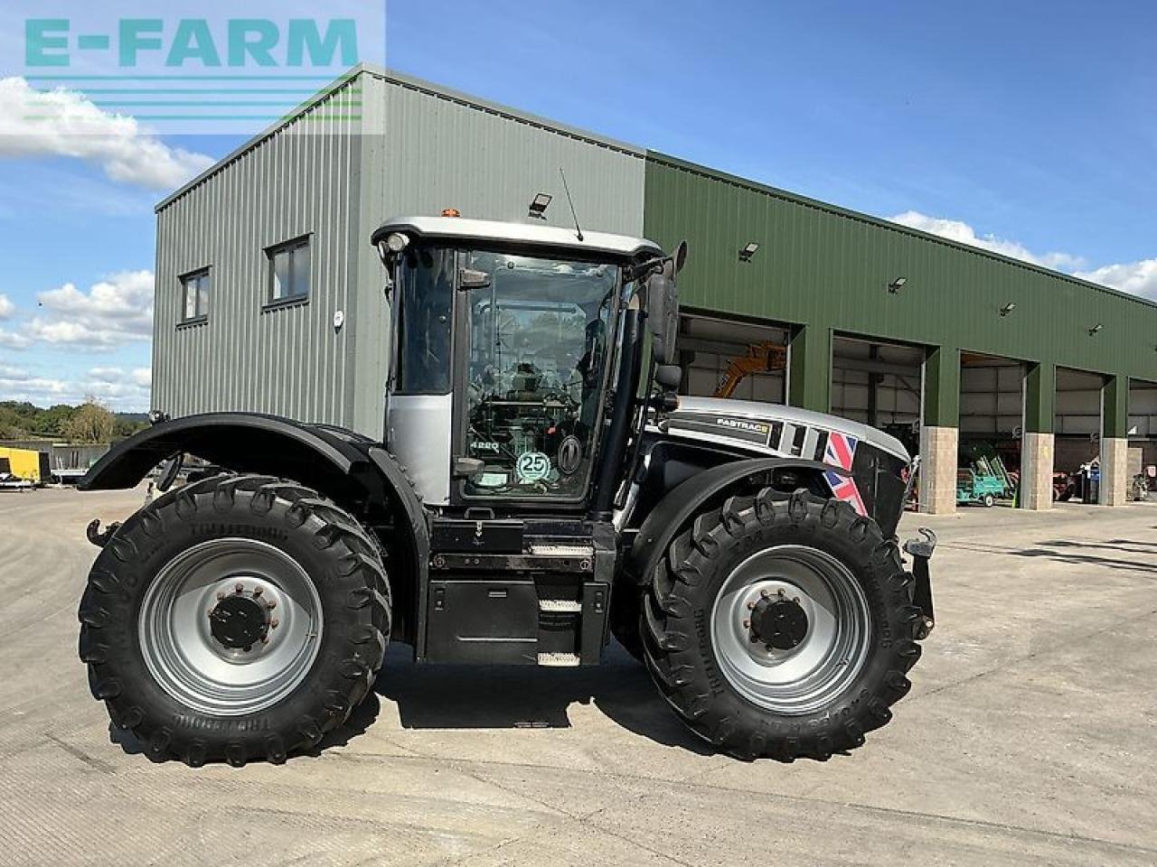
<path fill-rule="evenodd" d="M 574 229 L 557 225 L 507 223 L 498 220 L 469 220 L 455 216 L 417 216 L 386 220 L 370 238 L 377 244 L 390 232 L 401 232 L 421 238 L 444 238 L 464 242 L 499 242 L 531 246 L 566 249 L 576 252 L 610 253 L 628 259 L 640 255 L 662 255 L 663 250 L 646 238 L 607 232 L 582 232 L 582 240 Z"/>

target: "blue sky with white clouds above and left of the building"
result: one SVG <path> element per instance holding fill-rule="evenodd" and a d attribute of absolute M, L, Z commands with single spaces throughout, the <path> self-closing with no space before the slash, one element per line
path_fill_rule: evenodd
<path fill-rule="evenodd" d="M 401 72 L 1157 297 L 1157 6 L 390 0 L 386 22 Z M 0 399 L 147 408 L 153 205 L 241 138 L 65 156 L 3 123 Z"/>

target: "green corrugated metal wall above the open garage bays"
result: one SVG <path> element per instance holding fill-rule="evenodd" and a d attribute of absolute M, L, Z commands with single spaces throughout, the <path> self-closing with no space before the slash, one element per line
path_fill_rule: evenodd
<path fill-rule="evenodd" d="M 1157 306 L 1141 299 L 659 154 L 646 197 L 647 236 L 691 242 L 679 289 L 695 307 L 1157 379 Z M 747 242 L 761 246 L 744 264 Z"/>

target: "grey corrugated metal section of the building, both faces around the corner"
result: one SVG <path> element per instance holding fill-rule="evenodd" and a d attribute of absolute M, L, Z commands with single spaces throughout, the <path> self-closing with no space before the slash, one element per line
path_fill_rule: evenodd
<path fill-rule="evenodd" d="M 356 114 L 360 134 L 327 131 L 309 118 L 319 113 Z M 642 151 L 360 73 L 159 209 L 154 406 L 277 413 L 381 436 L 388 309 L 370 232 L 391 216 L 448 207 L 522 220 L 538 192 L 554 197 L 547 222 L 569 225 L 560 166 L 585 228 L 641 234 Z M 264 310 L 264 250 L 307 232 L 309 304 Z M 182 326 L 179 275 L 206 266 L 208 321 Z"/>

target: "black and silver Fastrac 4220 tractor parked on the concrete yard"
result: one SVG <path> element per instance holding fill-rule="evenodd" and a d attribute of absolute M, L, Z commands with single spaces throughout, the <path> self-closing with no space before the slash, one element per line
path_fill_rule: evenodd
<path fill-rule="evenodd" d="M 891 719 L 934 623 L 935 540 L 909 570 L 896 539 L 908 453 L 677 397 L 686 245 L 454 216 L 373 244 L 384 442 L 159 416 L 81 483 L 162 467 L 163 494 L 89 528 L 80 655 L 115 725 L 154 758 L 282 762 L 366 698 L 389 640 L 422 665 L 590 666 L 612 635 L 734 756 L 827 758 Z"/>

